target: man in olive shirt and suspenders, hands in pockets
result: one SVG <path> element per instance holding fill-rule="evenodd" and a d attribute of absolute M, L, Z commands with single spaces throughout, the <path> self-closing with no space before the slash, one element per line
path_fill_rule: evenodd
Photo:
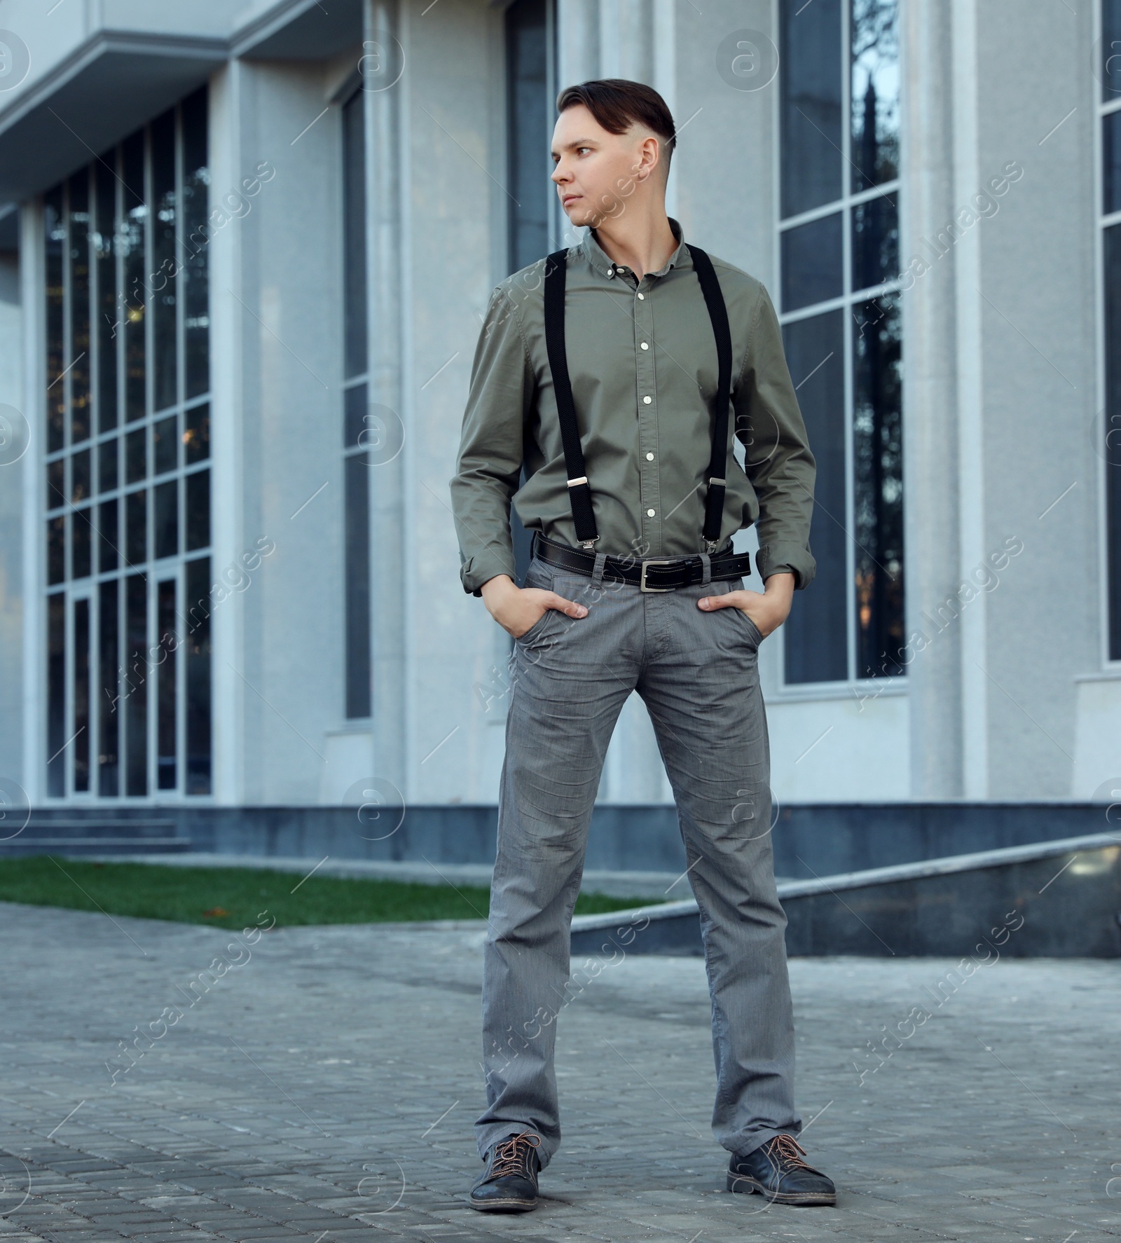
<path fill-rule="evenodd" d="M 701 909 L 727 1186 L 831 1204 L 794 1139 L 757 661 L 814 576 L 814 459 L 766 290 L 666 216 L 665 101 L 605 80 L 563 91 L 557 109 L 552 179 L 589 231 L 491 296 L 451 481 L 464 588 L 515 639 L 483 966 L 486 1168 L 471 1204 L 533 1208 L 559 1146 L 569 921 L 604 755 L 635 690 Z M 534 532 L 521 588 L 511 501 Z M 762 593 L 743 589 L 751 557 L 731 547 L 752 522 Z"/>

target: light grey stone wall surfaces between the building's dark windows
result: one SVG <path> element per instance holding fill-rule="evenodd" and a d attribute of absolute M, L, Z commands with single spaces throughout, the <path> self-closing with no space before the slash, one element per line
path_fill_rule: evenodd
<path fill-rule="evenodd" d="M 119 0 L 103 21 L 147 30 L 149 7 Z M 225 37 L 268 7 L 164 5 L 159 25 Z M 713 68 L 732 31 L 777 40 L 772 0 L 557 11 L 562 82 L 651 81 L 682 127 L 671 214 L 777 292 L 777 92 L 734 89 Z M 85 14 L 65 5 L 51 27 L 14 0 L 36 72 L 86 37 Z M 230 805 L 338 803 L 372 782 L 413 804 L 497 794 L 510 640 L 460 588 L 447 481 L 482 311 L 507 275 L 502 12 L 369 2 L 365 20 L 368 37 L 389 24 L 406 51 L 399 86 L 363 103 L 372 399 L 404 429 L 401 452 L 372 469 L 370 721 L 344 716 L 342 547 L 341 104 L 363 50 L 232 60 L 211 78 L 211 194 L 275 169 L 210 242 L 215 574 L 275 544 L 214 610 L 214 800 Z M 901 22 L 901 259 L 931 261 L 904 319 L 907 630 L 927 644 L 905 679 L 823 689 L 784 687 L 782 639 L 768 641 L 772 784 L 780 802 L 1085 799 L 1121 772 L 1121 674 L 1102 655 L 1092 11 L 915 0 Z M 935 259 L 931 239 L 1009 162 L 1023 175 L 999 210 Z M 39 333 L 19 280 L 29 287 L 27 270 L 0 262 L 0 401 L 16 406 L 40 399 L 19 362 Z M 0 776 L 31 792 L 41 610 L 24 548 L 40 518 L 21 488 L 37 470 L 0 467 Z M 1023 551 L 991 589 L 933 625 L 1009 539 Z M 737 548 L 754 547 L 741 532 Z M 670 800 L 636 696 L 600 800 Z"/>

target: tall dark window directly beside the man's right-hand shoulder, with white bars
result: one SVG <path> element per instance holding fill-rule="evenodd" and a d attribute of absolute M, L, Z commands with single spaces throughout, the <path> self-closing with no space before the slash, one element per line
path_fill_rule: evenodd
<path fill-rule="evenodd" d="M 780 11 L 783 339 L 818 464 L 817 578 L 783 628 L 784 677 L 895 676 L 906 672 L 897 0 L 782 0 Z"/>

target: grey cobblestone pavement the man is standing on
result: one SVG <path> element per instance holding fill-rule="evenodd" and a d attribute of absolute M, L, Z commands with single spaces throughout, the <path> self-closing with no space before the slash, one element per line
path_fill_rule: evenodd
<path fill-rule="evenodd" d="M 804 1142 L 835 1209 L 723 1190 L 700 960 L 577 972 L 544 1198 L 482 1217 L 481 941 L 254 943 L 0 905 L 0 1239 L 1121 1237 L 1121 963 L 1096 961 L 793 961 Z"/>

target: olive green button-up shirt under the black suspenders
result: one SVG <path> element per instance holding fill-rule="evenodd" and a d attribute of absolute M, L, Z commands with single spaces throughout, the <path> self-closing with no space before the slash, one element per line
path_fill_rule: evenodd
<path fill-rule="evenodd" d="M 677 249 L 640 281 L 589 229 L 568 250 L 565 343 L 592 490 L 597 552 L 702 552 L 717 358 L 712 322 L 681 226 Z M 544 264 L 491 295 L 475 351 L 451 501 L 464 589 L 515 578 L 510 505 L 522 525 L 577 547 L 568 472 L 544 338 Z M 732 328 L 732 416 L 721 549 L 757 523 L 766 582 L 790 571 L 809 585 L 815 462 L 763 286 L 712 256 Z M 744 446 L 746 471 L 733 452 Z M 526 482 L 521 487 L 524 460 Z"/>

